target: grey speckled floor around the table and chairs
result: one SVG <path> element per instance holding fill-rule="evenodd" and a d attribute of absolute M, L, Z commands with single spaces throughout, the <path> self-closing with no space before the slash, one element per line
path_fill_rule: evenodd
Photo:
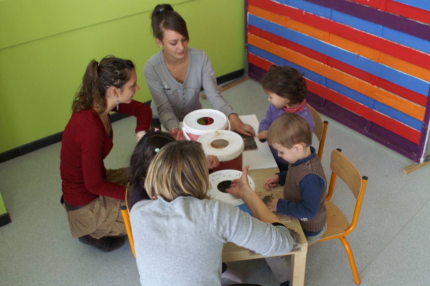
<path fill-rule="evenodd" d="M 264 117 L 268 101 L 259 83 L 248 80 L 223 95 L 239 115 Z M 203 105 L 209 107 L 207 101 Z M 430 166 L 402 175 L 402 168 L 412 161 L 322 117 L 330 122 L 322 158 L 327 177 L 330 151 L 335 148 L 342 148 L 369 177 L 358 226 L 347 237 L 361 285 L 430 285 Z M 114 148 L 105 160 L 109 168 L 127 166 L 135 145 L 134 126 L 133 118 L 113 124 Z M 58 143 L 0 164 L 0 192 L 12 217 L 12 223 L 0 228 L 0 284 L 138 285 L 128 243 L 103 253 L 71 237 L 59 203 L 60 148 Z M 351 217 L 355 201 L 342 182 L 332 201 Z M 242 272 L 245 282 L 279 285 L 264 260 L 228 265 Z M 305 285 L 355 285 L 339 240 L 310 247 Z"/>

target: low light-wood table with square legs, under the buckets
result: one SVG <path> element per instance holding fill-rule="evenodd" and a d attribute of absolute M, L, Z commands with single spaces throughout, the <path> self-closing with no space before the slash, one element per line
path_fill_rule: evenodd
<path fill-rule="evenodd" d="M 266 169 L 254 169 L 248 172 L 248 175 L 252 178 L 255 183 L 255 191 L 262 192 L 264 194 L 272 194 L 273 192 L 278 192 L 283 187 L 277 185 L 273 188 L 273 191 L 267 191 L 263 189 L 264 180 L 270 176 L 279 172 L 277 168 L 266 168 Z M 304 285 L 304 270 L 306 267 L 306 254 L 307 254 L 307 241 L 304 236 L 303 230 L 301 229 L 298 218 L 291 217 L 291 221 L 281 221 L 286 225 L 287 228 L 293 228 L 297 230 L 300 235 L 300 249 L 295 252 L 289 252 L 285 255 L 292 255 L 291 257 L 291 275 L 290 275 L 290 285 L 301 286 Z M 279 256 L 279 255 L 274 255 Z M 266 256 L 256 254 L 255 252 L 249 251 L 242 246 L 237 246 L 234 243 L 227 242 L 224 244 L 224 249 L 222 250 L 222 261 L 240 261 L 256 258 L 264 258 Z"/>

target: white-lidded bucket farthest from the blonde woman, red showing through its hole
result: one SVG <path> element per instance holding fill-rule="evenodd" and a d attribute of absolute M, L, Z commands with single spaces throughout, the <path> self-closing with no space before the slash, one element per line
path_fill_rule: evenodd
<path fill-rule="evenodd" d="M 215 109 L 198 109 L 184 117 L 182 131 L 188 140 L 197 139 L 208 132 L 230 130 L 230 121 L 221 111 Z"/>

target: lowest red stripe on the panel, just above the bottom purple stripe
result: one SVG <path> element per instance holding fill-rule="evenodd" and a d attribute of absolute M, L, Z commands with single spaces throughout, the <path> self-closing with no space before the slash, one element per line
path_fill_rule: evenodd
<path fill-rule="evenodd" d="M 263 68 L 267 71 L 267 69 L 272 65 L 272 62 L 265 60 L 264 58 L 260 58 L 252 53 L 248 53 L 248 60 L 253 65 L 256 65 L 260 68 Z M 342 95 L 338 92 L 335 92 L 332 89 L 329 89 L 325 86 L 320 85 L 312 80 L 306 79 L 307 89 L 310 92 L 313 92 L 322 98 L 326 98 L 333 103 L 352 111 L 361 117 L 364 117 L 367 120 L 370 120 L 391 132 L 394 132 L 403 138 L 408 139 L 416 144 L 419 144 L 421 132 L 413 129 L 397 120 L 394 120 L 391 117 L 388 117 L 384 114 L 379 113 L 371 108 L 368 108 L 365 105 L 354 101 L 345 95 Z"/>

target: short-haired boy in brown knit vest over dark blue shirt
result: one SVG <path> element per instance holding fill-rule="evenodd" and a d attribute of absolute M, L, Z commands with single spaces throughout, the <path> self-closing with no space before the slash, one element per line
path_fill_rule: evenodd
<path fill-rule="evenodd" d="M 310 146 L 310 127 L 298 114 L 282 114 L 272 123 L 267 142 L 279 157 L 289 162 L 288 171 L 270 176 L 263 187 L 284 186 L 284 199 L 272 199 L 267 204 L 273 212 L 299 219 L 308 245 L 319 240 L 327 230 L 325 199 L 327 179 L 321 161 Z M 266 258 L 281 286 L 288 286 L 290 263 L 286 256 Z"/>

